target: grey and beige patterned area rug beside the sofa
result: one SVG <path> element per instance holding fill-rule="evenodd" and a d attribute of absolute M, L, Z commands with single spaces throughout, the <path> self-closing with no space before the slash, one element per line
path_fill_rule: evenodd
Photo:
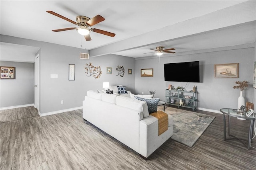
<path fill-rule="evenodd" d="M 163 107 L 158 106 L 158 110 L 163 110 Z M 215 117 L 211 115 L 173 107 L 166 107 L 165 112 L 173 116 L 174 125 L 172 139 L 189 147 L 193 147 L 215 119 Z"/>

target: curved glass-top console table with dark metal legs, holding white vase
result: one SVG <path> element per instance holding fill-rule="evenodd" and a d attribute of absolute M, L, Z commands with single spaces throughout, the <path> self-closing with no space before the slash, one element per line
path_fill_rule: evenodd
<path fill-rule="evenodd" d="M 250 149 L 250 145 L 251 145 L 251 139 L 253 137 L 253 125 L 254 125 L 254 121 L 255 121 L 255 118 L 252 117 L 252 116 L 249 116 L 247 117 L 245 115 L 245 111 L 244 111 L 244 114 L 241 115 L 241 114 L 238 114 L 236 109 L 227 109 L 227 108 L 224 108 L 224 109 L 220 109 L 220 111 L 223 113 L 223 124 L 224 124 L 224 141 L 226 140 L 230 140 L 230 139 L 238 139 L 239 141 L 242 142 L 242 140 L 244 139 L 239 139 L 238 137 L 235 137 L 233 135 L 230 134 L 230 116 L 232 117 L 238 117 L 238 118 L 241 118 L 241 119 L 246 119 L 246 120 L 250 120 L 251 123 L 250 123 L 250 128 L 249 128 L 249 134 L 248 134 L 248 149 Z M 226 138 L 226 117 L 225 115 L 228 115 L 228 136 L 232 137 L 232 138 L 229 138 L 227 139 Z M 245 140 L 246 141 L 246 140 Z M 243 142 L 242 142 L 243 143 Z M 243 143 L 244 144 L 244 143 Z M 245 145 L 245 144 L 244 144 Z M 246 145 L 245 145 L 246 146 Z"/>

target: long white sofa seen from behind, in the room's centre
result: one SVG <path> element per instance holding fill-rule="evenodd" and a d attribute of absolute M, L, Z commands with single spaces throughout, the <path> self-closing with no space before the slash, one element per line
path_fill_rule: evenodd
<path fill-rule="evenodd" d="M 158 136 L 158 119 L 149 115 L 146 102 L 123 95 L 88 91 L 83 101 L 83 119 L 144 159 L 172 136 L 172 116 L 168 115 L 168 130 Z"/>

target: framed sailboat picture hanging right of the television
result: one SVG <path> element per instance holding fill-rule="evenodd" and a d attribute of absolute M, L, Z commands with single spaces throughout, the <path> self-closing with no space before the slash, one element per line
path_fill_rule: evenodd
<path fill-rule="evenodd" d="M 214 78 L 239 78 L 239 63 L 214 64 Z"/>

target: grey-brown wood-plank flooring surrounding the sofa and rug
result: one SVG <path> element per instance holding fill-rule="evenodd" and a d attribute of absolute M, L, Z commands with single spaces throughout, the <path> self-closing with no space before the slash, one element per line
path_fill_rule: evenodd
<path fill-rule="evenodd" d="M 256 149 L 248 150 L 238 140 L 223 141 L 222 114 L 197 112 L 216 118 L 192 148 L 170 138 L 144 160 L 138 153 L 85 123 L 82 109 L 44 117 L 40 117 L 34 107 L 2 110 L 0 169 L 256 169 Z M 233 135 L 247 139 L 250 122 L 233 118 L 231 123 Z M 252 146 L 256 147 L 256 140 L 253 141 Z"/>

